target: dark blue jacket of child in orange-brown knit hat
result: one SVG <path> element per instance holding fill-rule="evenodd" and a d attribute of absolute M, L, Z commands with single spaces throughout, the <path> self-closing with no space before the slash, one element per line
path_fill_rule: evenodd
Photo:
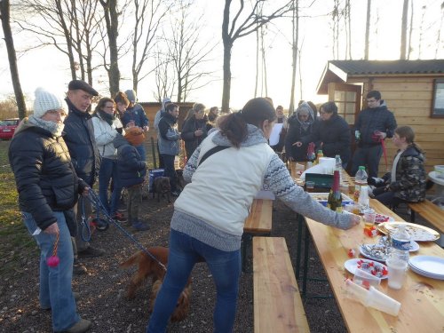
<path fill-rule="evenodd" d="M 117 149 L 119 186 L 131 187 L 142 184 L 147 174 L 147 163 L 142 161 L 136 147 L 131 146 L 122 134 L 117 134 L 113 143 Z"/>

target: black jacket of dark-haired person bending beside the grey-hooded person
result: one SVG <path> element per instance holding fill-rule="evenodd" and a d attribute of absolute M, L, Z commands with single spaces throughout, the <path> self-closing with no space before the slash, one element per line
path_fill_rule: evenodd
<path fill-rule="evenodd" d="M 350 128 L 340 115 L 331 115 L 329 120 L 316 123 L 312 134 L 302 139 L 302 142 L 314 142 L 326 157 L 340 155 L 343 163 L 350 160 Z"/>

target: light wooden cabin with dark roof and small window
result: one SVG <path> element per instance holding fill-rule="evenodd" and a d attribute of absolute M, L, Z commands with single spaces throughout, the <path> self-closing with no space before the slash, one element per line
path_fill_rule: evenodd
<path fill-rule="evenodd" d="M 444 164 L 444 59 L 436 60 L 330 60 L 317 92 L 329 95 L 338 113 L 353 127 L 369 91 L 380 91 L 398 125 L 416 133 L 426 153 L 425 169 Z M 392 165 L 396 148 L 386 139 L 387 160 Z M 379 173 L 385 173 L 384 157 Z"/>

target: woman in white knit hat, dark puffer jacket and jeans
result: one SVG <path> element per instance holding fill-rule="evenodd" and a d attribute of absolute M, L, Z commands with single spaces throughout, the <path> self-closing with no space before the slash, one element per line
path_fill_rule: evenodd
<path fill-rule="evenodd" d="M 78 315 L 71 289 L 71 236 L 76 233 L 72 208 L 76 193 L 86 194 L 89 187 L 77 178 L 61 137 L 65 116 L 62 100 L 38 88 L 34 115 L 15 131 L 9 161 L 23 220 L 40 248 L 40 306 L 52 310 L 55 332 L 77 333 L 90 329 L 91 321 Z M 54 255 L 59 263 L 51 258 Z"/>

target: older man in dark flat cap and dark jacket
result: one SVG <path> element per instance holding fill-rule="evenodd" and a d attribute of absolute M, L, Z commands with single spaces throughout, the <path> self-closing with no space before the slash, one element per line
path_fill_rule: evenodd
<path fill-rule="evenodd" d="M 91 106 L 92 96 L 97 96 L 99 93 L 90 84 L 82 80 L 71 81 L 67 89 L 67 99 L 65 100 L 67 102 L 68 115 L 64 122 L 64 139 L 77 176 L 92 187 L 99 172 L 100 157 L 88 109 Z M 91 211 L 91 202 L 80 197 L 78 204 L 75 206 L 75 215 L 79 226 L 75 236 L 75 274 L 85 271 L 83 267 L 77 266 L 77 257 L 89 258 L 104 254 L 104 250 L 91 247 L 90 243 L 84 242 L 82 238 L 82 219 L 89 218 Z"/>

